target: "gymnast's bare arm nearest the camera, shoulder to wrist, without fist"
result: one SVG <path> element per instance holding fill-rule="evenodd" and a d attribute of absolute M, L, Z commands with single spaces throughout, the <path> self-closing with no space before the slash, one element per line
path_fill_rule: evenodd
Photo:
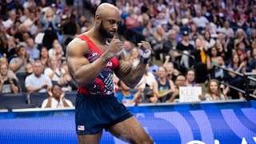
<path fill-rule="evenodd" d="M 102 54 L 96 61 L 90 63 L 84 57 L 89 51 L 86 42 L 75 38 L 66 48 L 66 62 L 70 70 L 70 74 L 78 83 L 78 86 L 84 86 L 94 82 L 98 74 L 106 66 L 110 60 L 107 53 Z"/>

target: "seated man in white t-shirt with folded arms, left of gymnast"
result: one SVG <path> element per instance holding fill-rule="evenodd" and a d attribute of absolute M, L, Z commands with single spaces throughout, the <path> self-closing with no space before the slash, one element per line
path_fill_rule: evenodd
<path fill-rule="evenodd" d="M 50 78 L 42 74 L 43 65 L 42 62 L 37 60 L 34 63 L 34 73 L 30 74 L 25 79 L 26 91 L 28 93 L 45 93 L 48 88 L 52 87 Z"/>

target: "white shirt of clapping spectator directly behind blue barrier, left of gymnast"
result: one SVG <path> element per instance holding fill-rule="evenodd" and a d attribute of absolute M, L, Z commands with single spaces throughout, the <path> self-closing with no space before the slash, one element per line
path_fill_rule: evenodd
<path fill-rule="evenodd" d="M 45 99 L 42 102 L 42 108 L 46 108 L 46 105 L 49 101 L 49 98 Z M 72 102 L 70 102 L 70 100 L 65 99 L 66 103 L 70 106 L 70 107 L 74 107 Z M 55 98 L 51 98 L 51 108 L 65 108 L 64 103 L 62 101 L 62 99 L 59 100 L 59 102 L 55 99 Z"/>

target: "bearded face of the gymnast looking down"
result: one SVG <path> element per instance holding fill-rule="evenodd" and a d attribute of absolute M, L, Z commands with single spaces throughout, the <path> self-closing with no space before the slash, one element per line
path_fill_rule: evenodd
<path fill-rule="evenodd" d="M 120 24 L 120 14 L 106 14 L 106 17 L 101 17 L 99 31 L 106 38 L 114 38 L 114 34 L 118 30 Z"/>

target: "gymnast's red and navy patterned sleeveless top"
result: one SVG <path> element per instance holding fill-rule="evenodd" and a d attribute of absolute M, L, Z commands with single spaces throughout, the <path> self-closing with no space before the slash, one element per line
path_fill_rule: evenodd
<path fill-rule="evenodd" d="M 98 47 L 91 42 L 86 35 L 81 34 L 78 36 L 82 40 L 86 41 L 89 47 L 89 53 L 85 55 L 90 63 L 96 61 L 103 53 Z M 78 94 L 85 95 L 113 95 L 114 94 L 114 82 L 113 82 L 113 70 L 118 66 L 118 58 L 112 58 L 107 62 L 105 68 L 98 74 L 94 82 L 85 86 L 78 86 Z"/>

